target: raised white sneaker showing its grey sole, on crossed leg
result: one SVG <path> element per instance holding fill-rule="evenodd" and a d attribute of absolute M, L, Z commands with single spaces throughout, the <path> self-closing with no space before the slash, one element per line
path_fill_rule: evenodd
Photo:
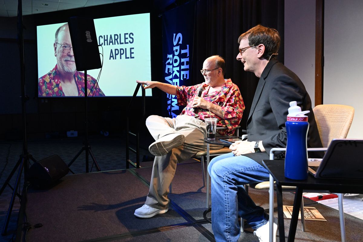
<path fill-rule="evenodd" d="M 149 151 L 154 156 L 166 155 L 172 148 L 184 143 L 185 136 L 180 133 L 165 135 L 149 146 Z"/>

